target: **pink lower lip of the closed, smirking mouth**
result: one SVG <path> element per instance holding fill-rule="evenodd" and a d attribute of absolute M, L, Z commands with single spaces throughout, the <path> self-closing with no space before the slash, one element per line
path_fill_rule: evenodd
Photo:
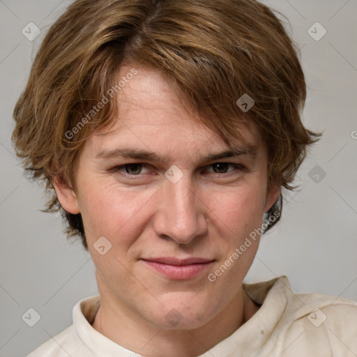
<path fill-rule="evenodd" d="M 211 266 L 213 261 L 208 263 L 199 263 L 199 264 L 190 264 L 190 265 L 169 265 L 157 263 L 155 261 L 147 261 L 144 262 L 154 268 L 156 271 L 165 275 L 167 278 L 176 279 L 176 280 L 185 280 L 190 278 L 195 278 L 195 276 L 199 275 L 207 268 Z"/>

